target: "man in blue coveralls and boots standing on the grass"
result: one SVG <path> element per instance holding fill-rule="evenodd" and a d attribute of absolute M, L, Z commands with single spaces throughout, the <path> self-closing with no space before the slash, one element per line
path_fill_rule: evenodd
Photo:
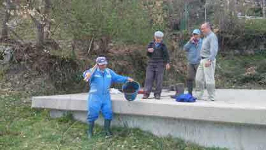
<path fill-rule="evenodd" d="M 89 123 L 88 137 L 92 137 L 94 121 L 98 118 L 100 110 L 104 117 L 104 131 L 107 136 L 112 135 L 110 132 L 110 124 L 112 120 L 112 102 L 110 98 L 109 88 L 112 83 L 132 82 L 133 79 L 121 75 L 117 75 L 112 69 L 107 68 L 107 60 L 105 57 L 96 59 L 96 66 L 86 70 L 83 77 L 89 81 L 90 90 L 87 101 Z"/>

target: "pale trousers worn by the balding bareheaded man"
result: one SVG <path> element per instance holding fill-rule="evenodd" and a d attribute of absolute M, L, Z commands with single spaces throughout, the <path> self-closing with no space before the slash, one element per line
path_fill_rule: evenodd
<path fill-rule="evenodd" d="M 201 99 L 203 96 L 204 83 L 206 83 L 206 88 L 209 94 L 209 100 L 214 101 L 215 99 L 215 65 L 216 59 L 211 62 L 209 67 L 205 67 L 205 63 L 208 59 L 201 59 L 200 65 L 196 72 L 196 91 L 198 92 L 198 98 Z"/>

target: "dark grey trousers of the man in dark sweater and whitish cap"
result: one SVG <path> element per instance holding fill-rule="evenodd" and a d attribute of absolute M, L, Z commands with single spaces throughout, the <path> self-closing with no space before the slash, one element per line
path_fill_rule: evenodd
<path fill-rule="evenodd" d="M 146 69 L 146 79 L 144 85 L 144 94 L 150 95 L 153 82 L 155 81 L 154 95 L 161 95 L 163 89 L 164 63 L 148 64 Z"/>

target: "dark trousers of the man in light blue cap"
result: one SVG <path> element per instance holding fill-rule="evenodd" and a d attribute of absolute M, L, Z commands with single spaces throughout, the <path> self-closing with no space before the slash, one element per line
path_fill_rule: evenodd
<path fill-rule="evenodd" d="M 188 93 L 192 95 L 193 91 L 193 82 L 196 76 L 196 72 L 198 69 L 199 64 L 188 64 L 187 65 L 187 88 L 188 88 Z"/>

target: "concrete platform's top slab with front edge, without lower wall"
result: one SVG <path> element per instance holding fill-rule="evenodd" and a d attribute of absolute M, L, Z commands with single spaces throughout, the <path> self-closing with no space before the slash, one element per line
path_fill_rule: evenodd
<path fill-rule="evenodd" d="M 122 94 L 111 97 L 117 114 L 266 125 L 266 90 L 218 90 L 215 102 L 195 103 L 176 102 L 170 97 L 142 100 L 142 95 L 138 95 L 133 102 L 126 101 Z M 33 97 L 32 107 L 86 111 L 86 99 L 87 93 Z"/>

